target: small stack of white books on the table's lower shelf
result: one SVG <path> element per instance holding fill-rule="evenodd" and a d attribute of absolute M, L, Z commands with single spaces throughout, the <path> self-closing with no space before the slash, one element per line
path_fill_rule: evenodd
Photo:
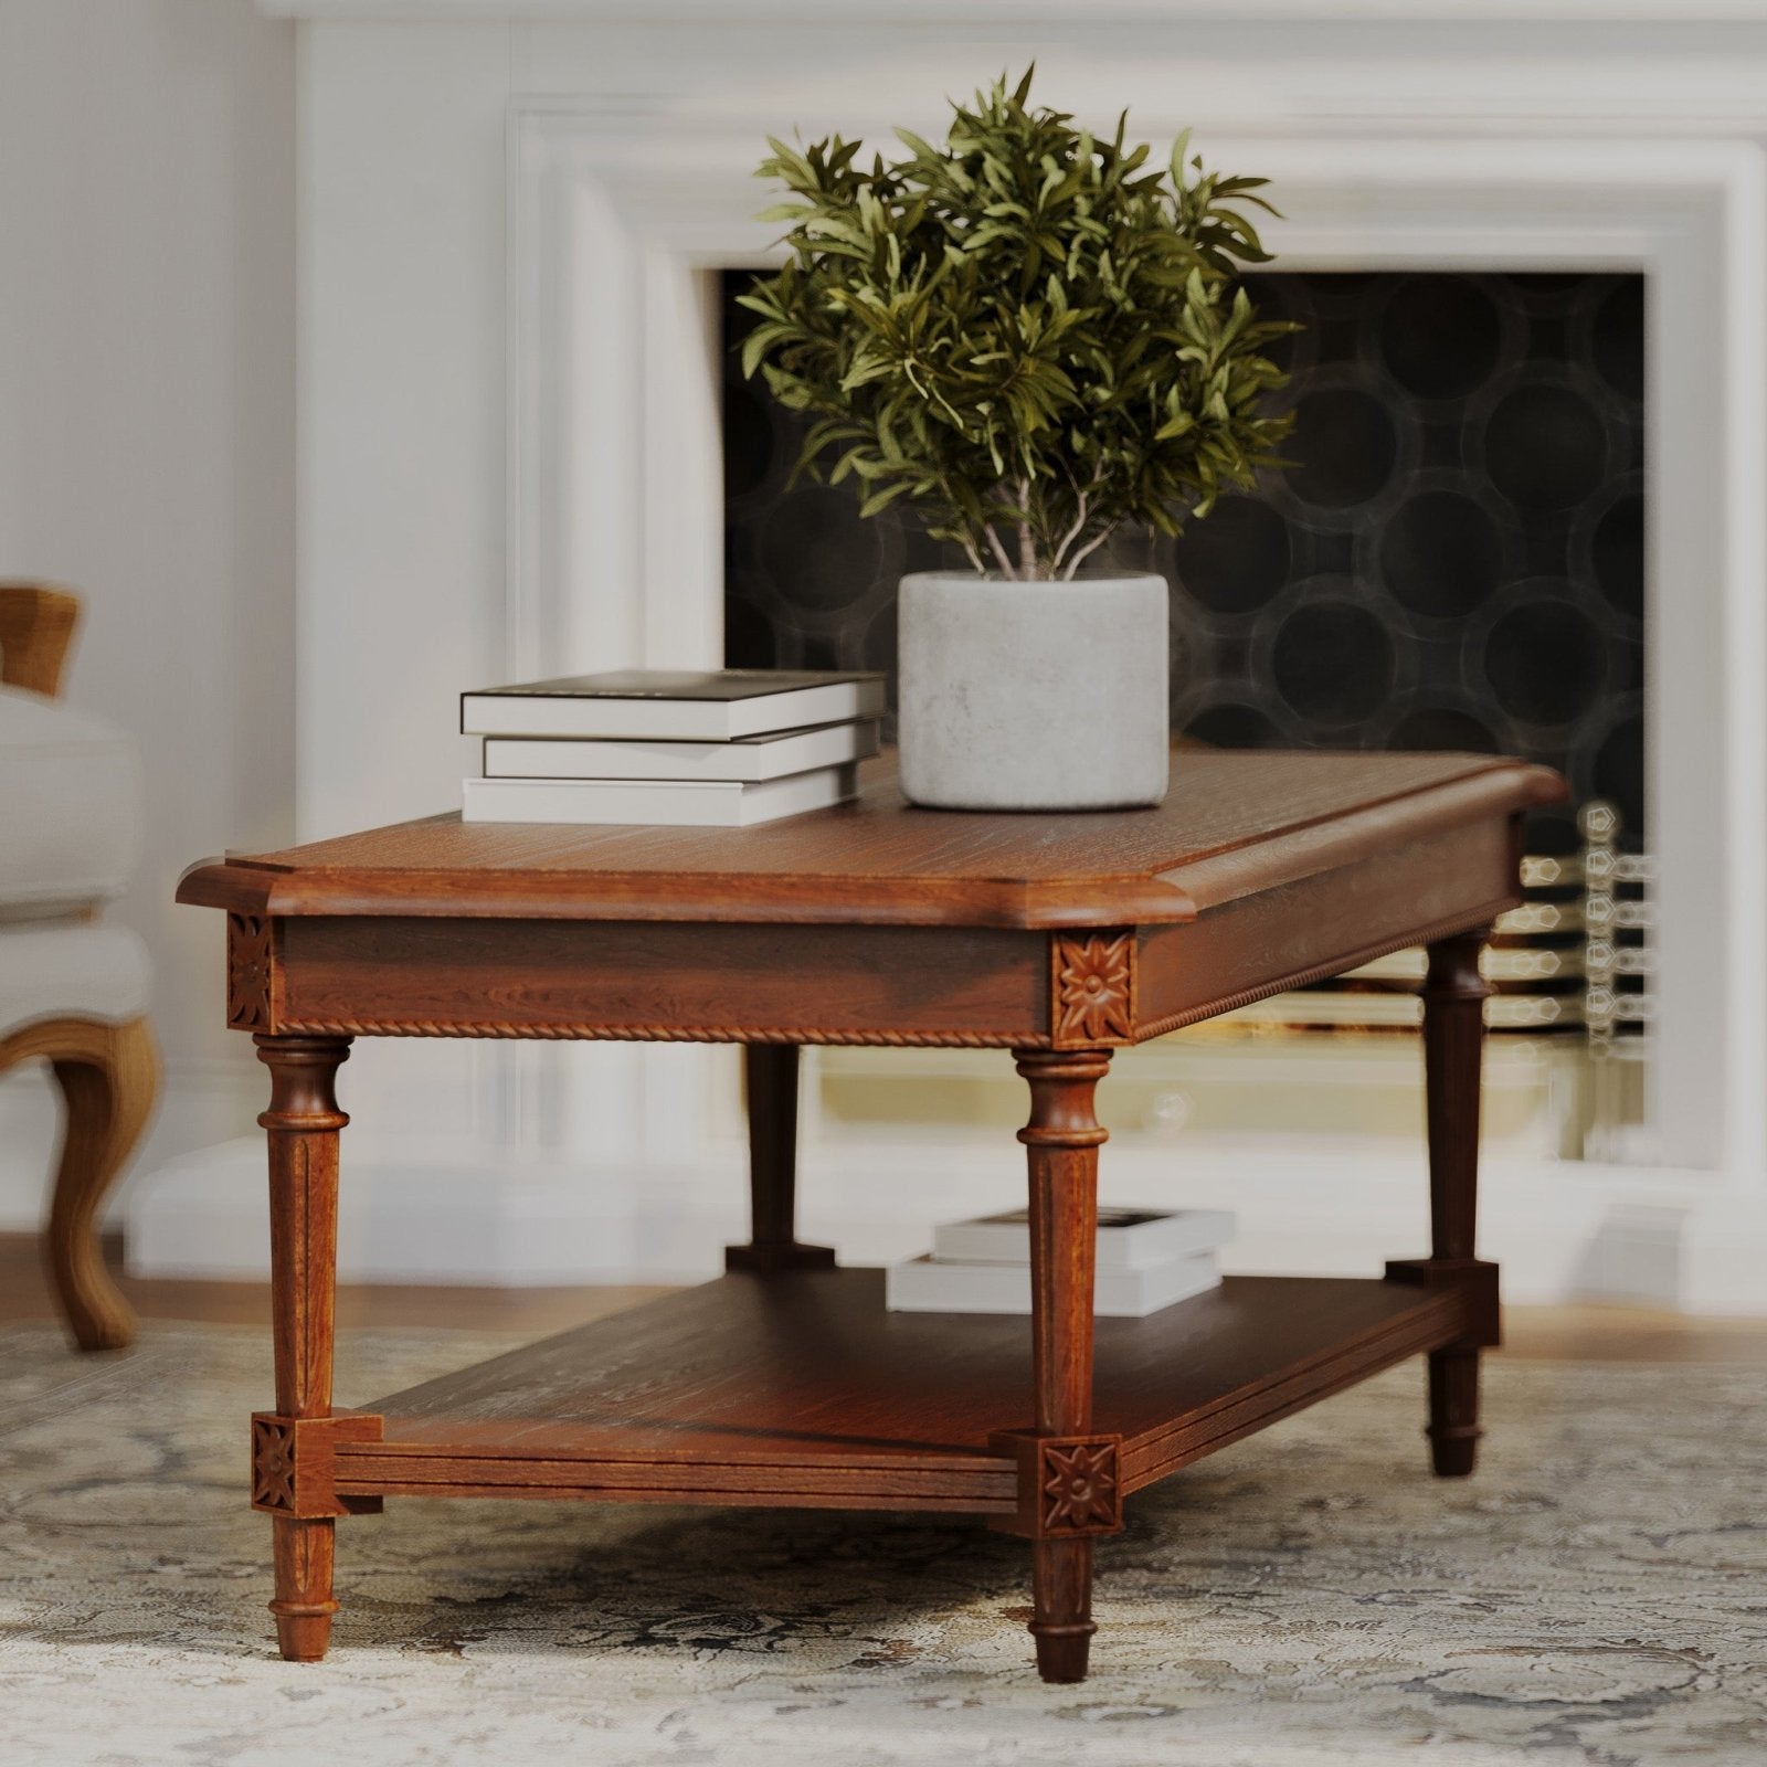
<path fill-rule="evenodd" d="M 1214 1288 L 1216 1253 L 1232 1237 L 1221 1209 L 1099 1209 L 1092 1311 L 1145 1318 Z M 1028 1313 L 1030 1214 L 935 1228 L 933 1251 L 892 1263 L 884 1293 L 899 1313 Z"/>

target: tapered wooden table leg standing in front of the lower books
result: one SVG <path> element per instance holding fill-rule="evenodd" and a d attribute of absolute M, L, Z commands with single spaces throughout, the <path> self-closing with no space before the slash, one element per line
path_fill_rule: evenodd
<path fill-rule="evenodd" d="M 1092 1270 L 1099 1147 L 1106 1140 L 1092 1096 L 1110 1073 L 1110 1055 L 1023 1051 L 1018 1071 L 1030 1081 L 1030 1122 L 1018 1138 L 1030 1166 L 1035 1433 L 1039 1438 L 1073 1438 L 1092 1428 Z M 1088 1454 L 1087 1449 L 1078 1452 Z M 1067 1463 L 1037 1461 L 1039 1493 L 1053 1491 L 1053 1504 L 1039 1509 L 1039 1537 L 1032 1543 L 1030 1633 L 1037 1640 L 1037 1673 L 1044 1680 L 1069 1682 L 1085 1679 L 1096 1629 L 1092 1539 L 1085 1532 L 1094 1521 L 1094 1498 L 1085 1488 L 1080 1504 L 1069 1502 L 1067 1493 L 1050 1483 L 1048 1468 L 1055 1465 Z"/>

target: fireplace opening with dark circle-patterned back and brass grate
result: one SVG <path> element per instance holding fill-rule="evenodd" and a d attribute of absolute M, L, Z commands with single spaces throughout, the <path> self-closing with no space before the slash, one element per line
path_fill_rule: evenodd
<path fill-rule="evenodd" d="M 749 281 L 719 279 L 724 659 L 891 670 L 898 576 L 961 571 L 963 558 L 901 504 L 861 521 L 848 489 L 793 481 L 808 422 L 746 380 L 735 352 Z M 1514 1035 L 1493 1046 L 1507 1092 L 1491 1129 L 1493 1141 L 1532 1134 L 1566 1156 L 1613 1157 L 1643 1129 L 1650 951 L 1589 885 L 1608 882 L 1615 850 L 1643 869 L 1643 277 L 1302 272 L 1249 284 L 1262 311 L 1302 327 L 1279 352 L 1297 465 L 1177 541 L 1111 544 L 1111 564 L 1172 583 L 1172 728 L 1226 747 L 1513 753 L 1564 772 L 1573 802 L 1527 827 L 1537 899 L 1488 958 L 1502 990 L 1490 1023 Z M 1622 912 L 1649 910 L 1627 899 Z M 1295 1133 L 1408 1134 L 1410 1044 L 1352 1046 L 1350 1060 L 1315 1051 L 1279 1113 L 1262 1081 L 1278 1030 L 1414 1030 L 1419 963 L 1399 954 L 1354 986 L 1262 1002 L 1120 1057 L 1117 1090 L 1134 1088 L 1168 1129 L 1267 1131 L 1279 1115 Z M 1235 1032 L 1260 1043 L 1242 1069 Z M 922 1111 L 938 1090 L 931 1064 L 894 1051 L 829 1053 L 818 1076 L 830 1120 L 855 1133 Z M 1009 1076 L 1000 1092 L 1009 1113 Z"/>

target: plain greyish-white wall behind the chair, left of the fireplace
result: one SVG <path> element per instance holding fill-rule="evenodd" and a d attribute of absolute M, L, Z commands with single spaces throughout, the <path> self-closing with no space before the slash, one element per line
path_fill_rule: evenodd
<path fill-rule="evenodd" d="M 117 919 L 155 961 L 143 1166 L 249 1124 L 193 859 L 293 830 L 295 27 L 247 0 L 0 4 L 0 576 L 80 588 L 69 698 L 147 755 Z M 0 1083 L 0 1228 L 53 1140 Z"/>

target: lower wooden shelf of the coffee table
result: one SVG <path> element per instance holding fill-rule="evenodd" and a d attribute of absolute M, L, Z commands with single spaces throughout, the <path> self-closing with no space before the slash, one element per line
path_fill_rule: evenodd
<path fill-rule="evenodd" d="M 1126 1491 L 1460 1338 L 1454 1288 L 1228 1278 L 1097 1322 L 1094 1428 Z M 1030 1322 L 891 1313 L 882 1270 L 724 1276 L 364 1412 L 341 1497 L 541 1497 L 1011 1513 L 1000 1430 L 1032 1421 Z"/>

